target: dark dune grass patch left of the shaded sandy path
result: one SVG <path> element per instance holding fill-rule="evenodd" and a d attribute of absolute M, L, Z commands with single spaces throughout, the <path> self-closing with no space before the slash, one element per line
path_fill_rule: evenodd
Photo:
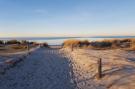
<path fill-rule="evenodd" d="M 29 46 L 28 46 L 29 44 Z M 7 40 L 0 41 L 0 53 L 15 53 L 15 52 L 21 52 L 26 51 L 31 48 L 36 47 L 35 42 L 28 42 L 26 40 Z"/>

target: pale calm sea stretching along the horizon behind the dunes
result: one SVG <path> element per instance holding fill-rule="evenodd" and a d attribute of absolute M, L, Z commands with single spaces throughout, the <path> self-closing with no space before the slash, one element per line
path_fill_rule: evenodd
<path fill-rule="evenodd" d="M 0 40 L 27 40 L 38 43 L 47 42 L 49 45 L 61 45 L 65 40 L 77 39 L 77 40 L 88 40 L 98 41 L 104 39 L 124 39 L 124 38 L 135 38 L 135 36 L 95 36 L 95 37 L 1 37 Z"/>

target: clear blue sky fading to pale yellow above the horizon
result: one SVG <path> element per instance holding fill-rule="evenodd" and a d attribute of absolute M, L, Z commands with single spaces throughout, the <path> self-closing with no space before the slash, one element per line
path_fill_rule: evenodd
<path fill-rule="evenodd" d="M 0 37 L 135 35 L 135 0 L 0 0 Z"/>

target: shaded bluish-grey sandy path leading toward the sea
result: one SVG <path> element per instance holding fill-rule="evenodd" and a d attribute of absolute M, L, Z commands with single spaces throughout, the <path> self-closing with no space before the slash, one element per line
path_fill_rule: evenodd
<path fill-rule="evenodd" d="M 74 89 L 70 61 L 57 49 L 38 49 L 0 76 L 0 89 Z"/>

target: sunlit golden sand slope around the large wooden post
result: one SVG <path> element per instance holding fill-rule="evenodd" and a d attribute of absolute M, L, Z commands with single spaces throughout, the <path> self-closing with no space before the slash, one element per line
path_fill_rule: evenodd
<path fill-rule="evenodd" d="M 74 79 L 79 89 L 135 89 L 135 52 L 123 50 L 82 50 L 70 55 Z M 97 80 L 97 60 L 103 61 L 103 78 Z"/>

